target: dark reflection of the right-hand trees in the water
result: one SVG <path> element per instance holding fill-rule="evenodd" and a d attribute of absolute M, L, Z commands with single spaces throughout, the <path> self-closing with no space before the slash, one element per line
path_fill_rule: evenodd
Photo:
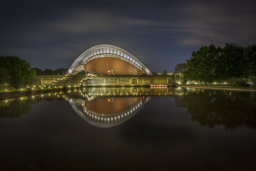
<path fill-rule="evenodd" d="M 177 105 L 186 103 L 187 112 L 200 125 L 211 128 L 224 125 L 227 129 L 241 125 L 256 128 L 255 93 L 195 90 L 185 92 L 182 99 L 176 98 L 175 101 Z"/>

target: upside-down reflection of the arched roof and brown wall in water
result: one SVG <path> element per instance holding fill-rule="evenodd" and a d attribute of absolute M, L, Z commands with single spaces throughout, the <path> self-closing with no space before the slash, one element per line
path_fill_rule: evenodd
<path fill-rule="evenodd" d="M 131 118 L 148 103 L 150 97 L 105 97 L 70 99 L 76 113 L 88 123 L 100 128 L 110 128 Z"/>

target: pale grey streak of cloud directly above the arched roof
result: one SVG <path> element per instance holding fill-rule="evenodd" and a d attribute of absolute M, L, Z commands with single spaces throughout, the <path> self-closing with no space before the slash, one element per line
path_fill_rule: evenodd
<path fill-rule="evenodd" d="M 130 17 L 120 17 L 100 11 L 79 11 L 72 16 L 42 23 L 49 28 L 70 34 L 104 34 L 107 32 L 123 32 L 132 28 L 153 26 L 155 22 Z"/>

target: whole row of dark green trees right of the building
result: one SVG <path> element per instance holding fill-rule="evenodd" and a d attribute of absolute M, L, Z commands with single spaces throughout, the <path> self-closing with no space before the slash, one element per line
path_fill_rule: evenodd
<path fill-rule="evenodd" d="M 175 72 L 182 72 L 184 79 L 200 83 L 226 82 L 245 86 L 256 81 L 256 45 L 237 46 L 202 46 L 193 51 L 186 63 L 175 67 Z"/>

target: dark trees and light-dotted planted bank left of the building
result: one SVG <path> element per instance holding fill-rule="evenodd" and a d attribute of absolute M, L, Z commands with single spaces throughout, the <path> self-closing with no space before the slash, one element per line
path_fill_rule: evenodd
<path fill-rule="evenodd" d="M 30 63 L 19 57 L 0 57 L 0 94 L 30 93 L 58 89 L 61 87 L 34 86 L 31 82 L 36 75 L 58 75 L 66 72 L 66 68 L 58 68 L 56 70 L 30 68 Z"/>

